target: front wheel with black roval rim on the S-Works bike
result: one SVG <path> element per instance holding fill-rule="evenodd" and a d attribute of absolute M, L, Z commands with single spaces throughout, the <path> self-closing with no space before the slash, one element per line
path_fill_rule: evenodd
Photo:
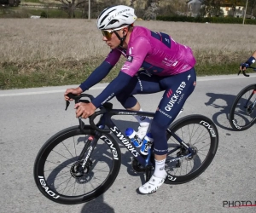
<path fill-rule="evenodd" d="M 38 153 L 34 164 L 34 179 L 45 197 L 60 204 L 79 204 L 95 199 L 106 192 L 119 173 L 121 153 L 117 142 L 109 134 L 102 134 L 81 171 L 79 161 L 88 138 L 94 135 L 90 126 L 73 126 L 53 135 Z M 89 147 L 89 146 L 87 146 Z"/>

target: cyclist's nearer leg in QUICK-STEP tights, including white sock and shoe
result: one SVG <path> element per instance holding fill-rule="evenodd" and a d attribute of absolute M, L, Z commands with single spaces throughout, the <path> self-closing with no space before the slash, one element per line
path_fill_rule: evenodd
<path fill-rule="evenodd" d="M 160 86 L 166 91 L 155 112 L 150 132 L 154 138 L 155 170 L 150 180 L 142 187 L 141 193 L 154 193 L 166 179 L 165 161 L 168 151 L 166 129 L 177 117 L 185 101 L 195 89 L 195 69 L 160 80 Z"/>

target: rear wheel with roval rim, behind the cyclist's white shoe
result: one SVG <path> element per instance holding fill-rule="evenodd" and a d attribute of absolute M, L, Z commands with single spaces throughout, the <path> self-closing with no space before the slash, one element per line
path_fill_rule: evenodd
<path fill-rule="evenodd" d="M 180 184 L 192 181 L 195 177 L 207 169 L 211 164 L 218 148 L 218 130 L 211 119 L 202 115 L 189 115 L 177 120 L 170 129 L 182 139 L 195 154 L 184 158 L 189 154 L 188 149 L 181 146 L 167 132 L 168 153 L 166 162 L 166 183 Z M 173 152 L 173 150 L 175 150 Z M 176 158 L 176 159 L 174 159 Z"/>

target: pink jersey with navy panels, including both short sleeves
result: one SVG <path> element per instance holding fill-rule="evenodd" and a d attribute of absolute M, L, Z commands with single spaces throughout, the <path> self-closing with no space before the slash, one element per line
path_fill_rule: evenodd
<path fill-rule="evenodd" d="M 195 66 L 192 50 L 175 42 L 162 32 L 152 32 L 143 26 L 134 26 L 127 49 L 113 49 L 105 61 L 115 65 L 120 55 L 127 60 L 121 72 L 133 77 L 141 67 L 159 76 L 186 72 Z"/>

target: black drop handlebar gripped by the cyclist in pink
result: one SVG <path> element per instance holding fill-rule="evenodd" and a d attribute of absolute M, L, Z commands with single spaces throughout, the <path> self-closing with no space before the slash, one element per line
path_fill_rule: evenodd
<path fill-rule="evenodd" d="M 94 100 L 94 96 L 93 95 L 89 95 L 89 94 L 81 94 L 81 95 L 73 95 L 71 93 L 67 94 L 67 96 L 70 98 L 70 99 L 73 99 L 75 101 L 75 103 L 79 103 L 79 102 L 84 102 L 84 103 L 90 103 L 90 101 Z M 90 101 L 88 100 L 81 100 L 81 98 L 89 98 Z M 67 107 L 69 106 L 70 102 L 69 101 L 66 101 L 66 109 L 67 110 Z M 103 130 L 101 128 L 99 128 L 95 123 L 94 123 L 94 119 L 99 116 L 99 115 L 102 115 L 104 114 L 105 112 L 108 112 L 109 110 L 111 110 L 113 107 L 113 104 L 112 103 L 105 103 L 102 105 L 102 107 L 100 107 L 100 110 L 97 111 L 97 112 L 94 112 L 90 117 L 89 117 L 89 123 L 90 123 L 90 126 L 94 129 L 94 130 L 97 130 L 99 132 L 103 132 L 103 133 L 108 133 L 110 132 L 110 130 Z M 79 117 L 79 126 L 81 127 L 81 130 L 84 129 L 84 122 L 82 121 L 82 118 Z"/>

